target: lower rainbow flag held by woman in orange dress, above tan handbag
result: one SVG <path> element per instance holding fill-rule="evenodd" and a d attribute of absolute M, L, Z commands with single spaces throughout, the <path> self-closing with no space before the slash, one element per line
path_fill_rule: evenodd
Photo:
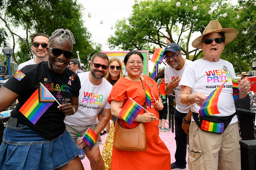
<path fill-rule="evenodd" d="M 133 100 L 131 100 L 131 98 L 129 98 L 126 101 L 122 110 L 120 111 L 119 116 L 121 116 L 125 122 L 129 123 L 129 125 L 132 125 L 132 122 L 139 115 L 141 110 L 142 110 L 142 107 L 138 105 L 136 102 L 134 102 Z"/>

